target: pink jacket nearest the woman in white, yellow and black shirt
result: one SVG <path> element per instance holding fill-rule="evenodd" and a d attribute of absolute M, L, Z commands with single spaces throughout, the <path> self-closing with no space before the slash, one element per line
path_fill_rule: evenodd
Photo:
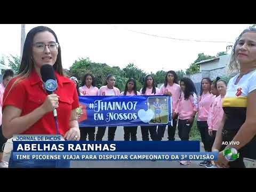
<path fill-rule="evenodd" d="M 208 123 L 208 129 L 212 129 L 214 131 L 218 131 L 219 128 L 219 124 L 222 120 L 224 111 L 222 109 L 222 99 L 221 95 L 219 95 L 218 97 L 214 98 L 211 109 L 210 109 L 210 113 L 209 113 L 209 117 L 207 119 L 207 123 Z"/>

